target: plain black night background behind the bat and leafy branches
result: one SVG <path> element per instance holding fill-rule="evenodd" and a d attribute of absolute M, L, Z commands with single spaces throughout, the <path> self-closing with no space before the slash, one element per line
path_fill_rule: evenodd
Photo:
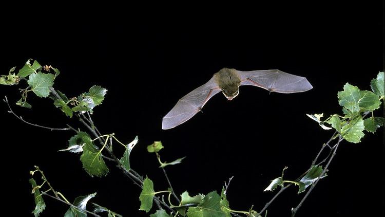
<path fill-rule="evenodd" d="M 20 69 L 32 58 L 61 70 L 54 87 L 69 97 L 94 84 L 107 88 L 93 120 L 103 134 L 114 132 L 126 143 L 139 135 L 131 167 L 151 178 L 156 191 L 166 190 L 167 183 L 146 146 L 161 140 L 162 160 L 186 156 L 183 164 L 166 168 L 178 195 L 185 190 L 190 195 L 220 192 L 224 181 L 234 176 L 227 193 L 230 207 L 248 210 L 254 205 L 258 211 L 273 196 L 263 192 L 269 180 L 280 176 L 284 166 L 288 166 L 287 179 L 302 174 L 333 133 L 305 114 L 341 113 L 337 92 L 343 85 L 349 82 L 370 89 L 370 80 L 383 70 L 383 6 L 378 1 L 249 9 L 170 14 L 131 8 L 127 14 L 116 12 L 119 17 L 104 18 L 104 12 L 94 12 L 74 21 L 70 21 L 71 12 L 47 13 L 38 20 L 31 16 L 25 22 L 4 25 L 1 71 Z M 233 101 L 218 94 L 203 113 L 175 129 L 161 130 L 162 117 L 177 100 L 223 67 L 278 68 L 306 77 L 314 88 L 269 95 L 261 88 L 242 86 Z M 0 86 L 0 92 L 26 120 L 57 128 L 66 123 L 82 127 L 54 108 L 50 99 L 31 94 L 31 110 L 17 107 L 17 88 Z M 79 155 L 57 152 L 67 147 L 73 132 L 51 132 L 22 123 L 7 114 L 5 103 L 0 114 L 3 206 L 8 207 L 3 211 L 32 216 L 28 179 L 33 165 L 38 165 L 70 201 L 98 192 L 93 202 L 124 216 L 146 216 L 138 211 L 140 189 L 113 164 L 107 163 L 108 176 L 91 178 L 82 169 Z M 329 176 L 297 215 L 383 215 L 383 136 L 381 128 L 375 134 L 366 133 L 361 143 L 343 141 Z M 115 150 L 117 155 L 123 153 L 119 146 Z M 290 216 L 304 195 L 297 195 L 297 190 L 286 190 L 268 208 L 268 216 Z M 68 209 L 49 198 L 46 203 L 42 216 L 62 216 Z"/>

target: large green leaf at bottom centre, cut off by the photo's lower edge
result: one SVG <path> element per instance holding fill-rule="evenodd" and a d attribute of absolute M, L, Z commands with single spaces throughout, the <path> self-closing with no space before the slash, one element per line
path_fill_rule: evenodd
<path fill-rule="evenodd" d="M 213 191 L 208 193 L 203 202 L 196 207 L 189 207 L 188 217 L 225 217 L 226 213 L 221 209 L 221 196 Z"/>

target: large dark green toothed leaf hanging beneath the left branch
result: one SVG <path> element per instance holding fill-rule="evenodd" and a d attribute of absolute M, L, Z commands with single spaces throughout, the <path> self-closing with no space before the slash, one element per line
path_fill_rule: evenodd
<path fill-rule="evenodd" d="M 80 160 L 83 163 L 83 168 L 91 177 L 93 175 L 99 177 L 107 175 L 108 168 L 102 158 L 102 150 L 99 150 L 94 146 L 90 137 L 83 136 L 82 140 L 84 141 L 84 146 Z"/>

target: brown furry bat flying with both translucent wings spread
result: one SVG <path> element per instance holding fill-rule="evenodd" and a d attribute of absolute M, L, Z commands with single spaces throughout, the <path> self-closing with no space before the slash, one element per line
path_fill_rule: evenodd
<path fill-rule="evenodd" d="M 206 102 L 222 91 L 228 100 L 239 94 L 239 86 L 253 85 L 277 93 L 299 93 L 309 91 L 313 86 L 306 78 L 284 73 L 278 69 L 239 71 L 233 68 L 222 68 L 202 86 L 182 97 L 170 112 L 164 116 L 162 129 L 175 128 L 186 122 L 202 110 Z"/>

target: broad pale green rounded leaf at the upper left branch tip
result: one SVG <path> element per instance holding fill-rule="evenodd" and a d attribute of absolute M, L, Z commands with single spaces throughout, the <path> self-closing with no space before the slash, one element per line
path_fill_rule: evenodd
<path fill-rule="evenodd" d="M 51 92 L 49 87 L 53 85 L 54 76 L 52 74 L 37 73 L 28 77 L 28 84 L 31 90 L 39 97 L 47 97 Z"/>

